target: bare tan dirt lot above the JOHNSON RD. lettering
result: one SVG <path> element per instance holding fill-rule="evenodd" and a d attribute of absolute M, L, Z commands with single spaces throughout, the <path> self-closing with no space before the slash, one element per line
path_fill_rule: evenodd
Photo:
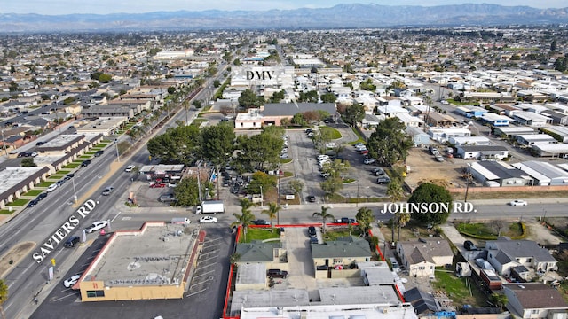
<path fill-rule="evenodd" d="M 438 148 L 442 150 L 443 148 Z M 445 155 L 445 152 L 443 152 Z M 448 159 L 438 162 L 428 152 L 427 148 L 413 148 L 408 154 L 406 165 L 410 167 L 410 173 L 406 175 L 406 183 L 412 189 L 421 183 L 431 182 L 446 187 L 465 187 L 465 179 L 461 178 L 465 167 L 463 159 Z"/>

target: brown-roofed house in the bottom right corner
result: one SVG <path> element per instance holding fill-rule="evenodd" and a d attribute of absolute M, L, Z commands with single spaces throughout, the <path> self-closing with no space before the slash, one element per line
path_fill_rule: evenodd
<path fill-rule="evenodd" d="M 565 319 L 568 303 L 548 284 L 503 284 L 507 309 L 519 318 Z"/>

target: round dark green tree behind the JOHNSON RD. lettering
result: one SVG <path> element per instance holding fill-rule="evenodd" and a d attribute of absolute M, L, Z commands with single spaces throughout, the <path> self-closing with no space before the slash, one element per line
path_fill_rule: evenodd
<path fill-rule="evenodd" d="M 425 203 L 426 205 L 437 203 L 447 206 L 447 211 L 445 211 L 444 209 L 438 209 L 437 212 L 411 212 L 412 218 L 416 221 L 429 223 L 432 225 L 441 224 L 443 222 L 446 222 L 448 216 L 451 213 L 451 209 L 449 208 L 452 206 L 452 195 L 443 186 L 439 186 L 433 183 L 422 183 L 413 191 L 412 196 L 408 198 L 408 203 Z"/>

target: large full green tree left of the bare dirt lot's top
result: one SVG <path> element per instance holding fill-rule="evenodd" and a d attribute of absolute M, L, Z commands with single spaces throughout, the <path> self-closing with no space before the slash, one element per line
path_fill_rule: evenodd
<path fill-rule="evenodd" d="M 386 166 L 398 160 L 406 161 L 413 145 L 412 138 L 405 132 L 405 124 L 396 117 L 381 121 L 367 140 L 369 155 Z"/>

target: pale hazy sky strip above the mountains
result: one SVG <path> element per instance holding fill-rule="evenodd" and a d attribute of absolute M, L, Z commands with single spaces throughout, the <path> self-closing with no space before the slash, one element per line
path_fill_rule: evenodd
<path fill-rule="evenodd" d="M 335 4 L 439 5 L 439 4 L 501 4 L 528 5 L 534 8 L 568 7 L 566 0 L 0 0 L 0 13 L 39 13 L 48 15 L 70 13 L 140 13 L 157 11 L 270 10 L 297 8 L 327 8 Z"/>

